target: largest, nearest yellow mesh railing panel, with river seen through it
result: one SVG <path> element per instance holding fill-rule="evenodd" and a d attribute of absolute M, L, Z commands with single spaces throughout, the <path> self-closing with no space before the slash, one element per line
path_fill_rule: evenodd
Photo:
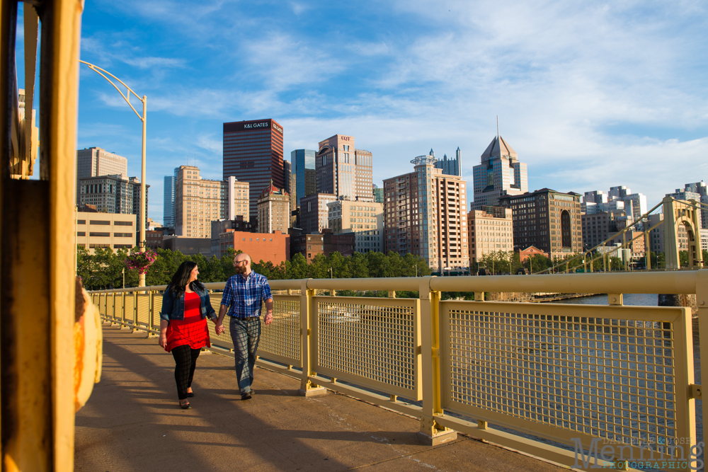
<path fill-rule="evenodd" d="M 682 321 L 648 307 L 644 316 L 654 319 L 623 319 L 607 307 L 583 317 L 544 314 L 549 306 L 518 313 L 520 304 L 504 311 L 476 305 L 442 311 L 450 336 L 444 406 L 501 413 L 612 444 L 685 442 L 677 419 L 687 396 L 676 393 L 677 364 L 687 365 L 678 358 L 687 356 Z"/>

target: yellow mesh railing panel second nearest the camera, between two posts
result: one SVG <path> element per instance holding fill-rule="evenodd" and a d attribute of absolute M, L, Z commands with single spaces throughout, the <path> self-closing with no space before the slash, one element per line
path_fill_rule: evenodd
<path fill-rule="evenodd" d="M 316 372 L 418 400 L 415 301 L 314 297 Z"/>

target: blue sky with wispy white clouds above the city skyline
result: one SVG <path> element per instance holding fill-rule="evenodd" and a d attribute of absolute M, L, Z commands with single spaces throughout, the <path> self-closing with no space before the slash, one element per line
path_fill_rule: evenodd
<path fill-rule="evenodd" d="M 222 122 L 273 118 L 285 158 L 333 134 L 374 155 L 374 183 L 413 157 L 496 134 L 531 190 L 627 185 L 653 206 L 708 180 L 704 1 L 87 1 L 81 59 L 148 98 L 149 216 L 164 175 L 222 175 Z M 126 156 L 140 122 L 81 67 L 77 148 Z M 469 195 L 469 200 L 472 195 Z"/>

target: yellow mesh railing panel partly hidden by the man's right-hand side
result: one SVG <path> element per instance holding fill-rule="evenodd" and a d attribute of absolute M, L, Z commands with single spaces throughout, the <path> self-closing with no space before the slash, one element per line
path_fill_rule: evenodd
<path fill-rule="evenodd" d="M 265 307 L 261 310 L 264 316 Z M 258 355 L 302 367 L 300 326 L 299 297 L 273 295 L 273 323 L 261 325 Z"/>

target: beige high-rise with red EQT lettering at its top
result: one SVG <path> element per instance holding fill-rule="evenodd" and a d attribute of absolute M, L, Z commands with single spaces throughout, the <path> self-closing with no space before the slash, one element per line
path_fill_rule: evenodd
<path fill-rule="evenodd" d="M 315 163 L 317 192 L 352 201 L 374 201 L 372 155 L 356 149 L 353 136 L 335 134 L 319 142 Z"/>

